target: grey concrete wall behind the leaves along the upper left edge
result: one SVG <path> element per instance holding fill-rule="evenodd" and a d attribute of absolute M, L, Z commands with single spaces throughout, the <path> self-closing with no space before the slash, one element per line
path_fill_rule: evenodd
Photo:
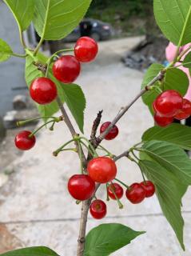
<path fill-rule="evenodd" d="M 23 52 L 17 23 L 2 1 L 0 1 L 0 38 L 8 42 L 15 53 Z M 25 93 L 25 90 L 13 90 L 15 87 L 26 86 L 24 65 L 24 59 L 15 57 L 0 63 L 0 116 L 12 109 L 12 99 L 15 94 Z"/>

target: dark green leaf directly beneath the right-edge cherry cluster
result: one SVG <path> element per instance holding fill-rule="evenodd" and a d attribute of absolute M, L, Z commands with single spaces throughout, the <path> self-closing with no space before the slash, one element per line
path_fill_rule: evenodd
<path fill-rule="evenodd" d="M 145 131 L 142 140 L 170 142 L 185 150 L 191 150 L 191 128 L 178 123 L 166 127 L 153 126 Z"/>

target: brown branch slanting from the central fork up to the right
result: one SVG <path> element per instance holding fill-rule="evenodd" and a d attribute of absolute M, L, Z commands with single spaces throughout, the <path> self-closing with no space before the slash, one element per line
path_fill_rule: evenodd
<path fill-rule="evenodd" d="M 133 100 L 131 102 L 129 102 L 129 104 L 125 107 L 123 107 L 119 113 L 117 114 L 117 116 L 113 119 L 113 121 L 110 123 L 110 125 L 107 127 L 107 129 L 105 129 L 105 131 L 100 134 L 97 137 L 97 146 L 101 143 L 101 141 L 105 138 L 105 136 L 107 134 L 109 134 L 109 131 L 113 128 L 113 126 L 121 119 L 121 117 L 127 112 L 127 110 L 129 110 L 129 108 L 133 105 L 134 102 L 137 102 L 137 99 L 140 98 L 143 94 L 145 94 L 146 91 L 150 90 L 150 87 L 153 86 L 153 84 L 157 81 L 161 81 L 165 76 L 165 70 L 161 70 L 159 74 L 157 74 L 157 76 L 155 78 L 153 78 L 153 80 L 151 82 L 149 82 L 149 84 L 147 86 L 145 86 L 144 89 L 142 89 L 140 91 L 139 94 L 137 94 L 137 96 L 135 98 L 133 98 Z"/>

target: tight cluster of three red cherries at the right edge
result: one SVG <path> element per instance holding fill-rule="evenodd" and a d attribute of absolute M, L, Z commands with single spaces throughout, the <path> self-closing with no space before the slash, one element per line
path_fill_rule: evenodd
<path fill-rule="evenodd" d="M 183 120 L 191 115 L 191 102 L 176 90 L 165 90 L 153 102 L 154 120 L 158 126 L 169 126 L 174 118 Z"/>

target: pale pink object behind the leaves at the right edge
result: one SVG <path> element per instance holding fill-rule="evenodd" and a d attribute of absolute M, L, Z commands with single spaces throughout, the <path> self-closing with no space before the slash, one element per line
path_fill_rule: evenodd
<path fill-rule="evenodd" d="M 181 46 L 180 53 L 183 50 L 186 50 L 189 46 L 191 46 L 190 43 L 185 45 L 185 46 Z M 174 46 L 172 42 L 169 42 L 169 46 L 167 46 L 166 49 L 165 49 L 165 56 L 166 56 L 166 59 L 168 60 L 168 62 L 173 62 L 173 58 L 175 57 L 176 51 L 177 51 L 177 46 Z M 189 51 L 191 51 L 191 50 L 189 50 Z M 185 58 L 185 56 L 183 56 L 181 58 L 181 60 L 184 60 L 184 58 Z M 181 64 L 181 63 L 177 63 L 177 65 L 179 65 L 179 64 Z M 185 68 L 184 66 L 179 66 L 178 68 L 180 70 L 184 71 L 185 74 L 187 74 L 187 76 L 189 78 L 189 89 L 187 90 L 187 93 L 185 94 L 184 98 L 191 101 L 191 77 L 190 77 L 190 74 L 189 74 L 189 69 Z"/>

